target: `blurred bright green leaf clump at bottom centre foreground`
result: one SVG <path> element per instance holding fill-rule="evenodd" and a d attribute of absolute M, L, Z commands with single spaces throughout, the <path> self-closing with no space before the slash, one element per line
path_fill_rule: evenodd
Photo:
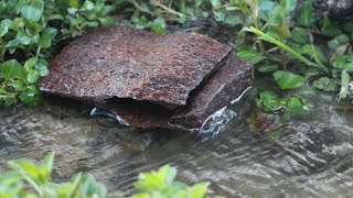
<path fill-rule="evenodd" d="M 194 186 L 188 186 L 184 183 L 175 182 L 176 168 L 165 165 L 158 172 L 142 173 L 139 180 L 135 183 L 137 189 L 143 191 L 133 195 L 132 198 L 203 198 L 210 183 L 199 183 Z"/>

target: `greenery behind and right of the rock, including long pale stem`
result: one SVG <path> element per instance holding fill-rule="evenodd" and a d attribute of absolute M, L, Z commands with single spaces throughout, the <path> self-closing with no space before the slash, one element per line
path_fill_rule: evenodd
<path fill-rule="evenodd" d="M 150 29 L 154 19 L 163 21 L 163 28 L 159 28 L 163 31 L 159 33 L 164 32 L 164 22 L 182 24 L 193 20 L 215 21 L 227 25 L 229 30 L 237 28 L 234 45 L 238 48 L 238 56 L 254 63 L 259 73 L 274 73 L 280 88 L 298 88 L 310 79 L 314 81 L 313 87 L 324 91 L 336 91 L 336 86 L 341 86 L 340 99 L 352 95 L 349 85 L 353 23 L 350 20 L 332 21 L 328 13 L 319 16 L 312 0 L 303 0 L 300 4 L 298 0 L 116 2 L 130 19 L 131 26 Z M 252 36 L 252 33 L 256 36 Z M 328 37 L 324 45 L 322 41 L 317 41 L 320 36 Z M 296 86 L 284 86 L 279 79 L 287 77 L 296 77 Z M 331 86 L 324 88 L 319 85 L 323 82 Z"/>

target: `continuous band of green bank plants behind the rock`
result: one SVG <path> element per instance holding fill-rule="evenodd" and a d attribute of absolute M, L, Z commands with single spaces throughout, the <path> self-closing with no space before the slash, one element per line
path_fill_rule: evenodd
<path fill-rule="evenodd" d="M 351 99 L 353 23 L 318 18 L 311 0 L 1 0 L 0 11 L 0 103 L 7 107 L 38 103 L 35 82 L 47 75 L 53 52 L 88 28 L 113 24 L 109 13 L 159 34 L 168 24 L 216 24 L 233 31 L 238 56 L 255 64 L 257 76 L 274 76 L 285 90 L 311 81 Z"/>

